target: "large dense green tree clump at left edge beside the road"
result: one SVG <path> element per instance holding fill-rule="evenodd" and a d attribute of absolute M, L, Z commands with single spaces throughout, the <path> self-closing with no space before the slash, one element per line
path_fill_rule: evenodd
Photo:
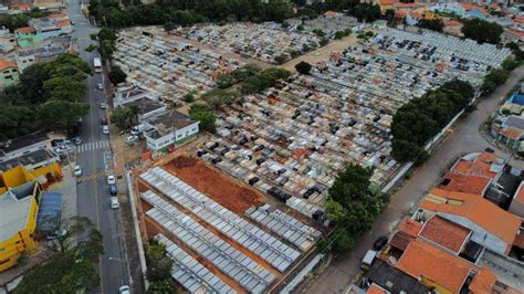
<path fill-rule="evenodd" d="M 0 93 L 0 140 L 36 129 L 71 130 L 88 109 L 80 102 L 88 74 L 91 66 L 71 54 L 28 66 L 18 84 Z"/>

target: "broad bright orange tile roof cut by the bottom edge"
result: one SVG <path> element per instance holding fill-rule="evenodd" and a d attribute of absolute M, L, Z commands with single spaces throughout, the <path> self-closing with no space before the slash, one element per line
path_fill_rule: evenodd
<path fill-rule="evenodd" d="M 451 292 L 459 293 L 468 274 L 476 266 L 417 239 L 404 252 L 397 269 L 415 279 L 423 276 Z"/>

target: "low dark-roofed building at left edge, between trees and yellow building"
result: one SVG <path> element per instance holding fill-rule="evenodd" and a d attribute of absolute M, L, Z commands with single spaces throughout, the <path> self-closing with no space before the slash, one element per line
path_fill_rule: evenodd
<path fill-rule="evenodd" d="M 31 171 L 59 160 L 60 157 L 51 150 L 51 139 L 44 132 L 0 143 L 0 171 L 19 165 Z"/>

